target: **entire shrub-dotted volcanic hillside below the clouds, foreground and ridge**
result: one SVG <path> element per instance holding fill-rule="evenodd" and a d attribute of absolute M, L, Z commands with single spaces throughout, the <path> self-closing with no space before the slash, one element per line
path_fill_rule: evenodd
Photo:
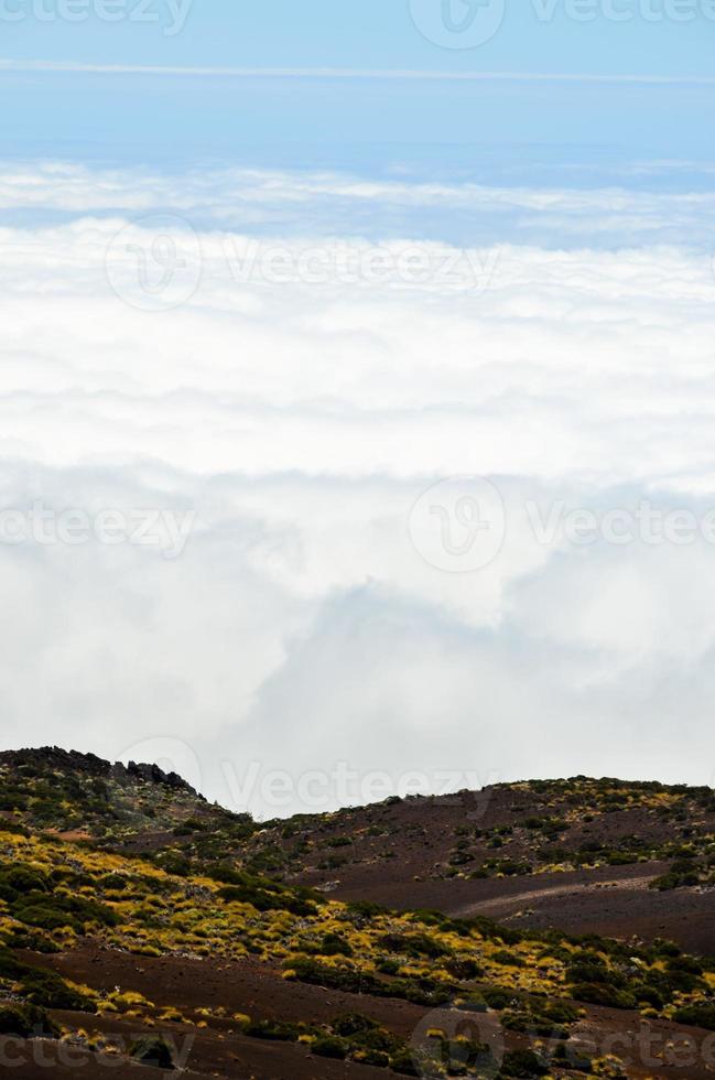
<path fill-rule="evenodd" d="M 553 885 L 662 878 L 622 892 L 709 910 L 708 790 L 578 778 L 257 827 L 48 749 L 0 756 L 0 797 L 18 1077 L 712 1076 L 715 959 L 640 932 L 644 911 L 564 933 Z M 524 893 L 551 907 L 517 918 Z"/>

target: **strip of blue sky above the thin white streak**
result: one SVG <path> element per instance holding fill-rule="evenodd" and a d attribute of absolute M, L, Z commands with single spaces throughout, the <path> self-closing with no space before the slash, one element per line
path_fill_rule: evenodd
<path fill-rule="evenodd" d="M 7 0 L 6 8 L 32 12 L 35 0 Z M 186 7 L 186 0 L 182 0 Z M 57 0 L 43 0 L 56 11 Z M 492 4 L 494 6 L 494 4 Z M 183 29 L 166 0 L 152 0 L 148 13 L 159 22 L 138 21 L 138 0 L 127 0 L 134 18 L 105 22 L 90 4 L 84 22 L 45 23 L 36 18 L 3 28 L 3 52 L 13 58 L 72 60 L 91 63 L 184 64 L 251 67 L 369 67 L 473 72 L 591 72 L 703 76 L 713 74 L 713 6 L 707 0 L 615 0 L 617 22 L 604 6 L 579 22 L 563 0 L 506 0 L 498 32 L 475 48 L 440 47 L 419 32 L 421 12 L 438 0 L 194 0 Z M 489 3 L 486 3 L 489 7 Z M 454 0 L 455 18 L 466 4 Z M 588 6 L 586 6 L 587 11 Z M 581 10 L 583 8 L 583 0 Z M 683 20 L 669 14 L 680 10 Z M 711 19 L 705 17 L 709 11 Z M 553 15 L 552 15 L 553 12 Z"/>

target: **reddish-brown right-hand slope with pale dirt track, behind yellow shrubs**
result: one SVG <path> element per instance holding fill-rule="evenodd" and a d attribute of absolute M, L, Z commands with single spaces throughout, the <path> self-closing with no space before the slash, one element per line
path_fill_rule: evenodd
<path fill-rule="evenodd" d="M 251 865 L 345 899 L 715 951 L 709 788 L 498 786 L 273 823 L 250 849 Z"/>

